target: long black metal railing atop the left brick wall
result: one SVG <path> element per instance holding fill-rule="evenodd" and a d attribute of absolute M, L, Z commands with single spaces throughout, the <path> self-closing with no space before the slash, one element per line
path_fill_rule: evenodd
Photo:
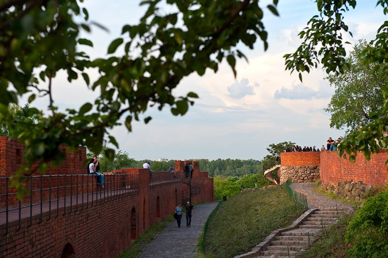
<path fill-rule="evenodd" d="M 40 215 L 38 223 L 59 216 L 87 209 L 102 203 L 139 194 L 138 174 L 104 174 L 105 189 L 97 186 L 94 175 L 47 175 L 24 177 L 24 187 L 29 194 L 17 199 L 16 190 L 10 187 L 10 177 L 0 177 L 0 225 L 4 235 L 10 231 L 10 223 L 17 221 L 20 230 L 23 219 Z M 51 212 L 54 211 L 54 212 Z M 1 226 L 3 229 L 3 226 Z"/>

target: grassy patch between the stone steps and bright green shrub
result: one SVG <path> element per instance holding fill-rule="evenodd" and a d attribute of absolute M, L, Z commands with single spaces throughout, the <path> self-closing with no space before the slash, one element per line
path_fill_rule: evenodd
<path fill-rule="evenodd" d="M 345 243 L 345 233 L 353 214 L 343 215 L 337 224 L 326 229 L 298 258 L 339 258 L 348 257 L 350 246 Z"/>

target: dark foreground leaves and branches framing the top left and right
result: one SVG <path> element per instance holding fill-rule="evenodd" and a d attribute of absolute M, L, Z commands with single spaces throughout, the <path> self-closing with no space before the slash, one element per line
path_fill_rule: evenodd
<path fill-rule="evenodd" d="M 94 153 L 106 144 L 118 147 L 109 130 L 125 124 L 130 131 L 132 121 L 139 120 L 149 106 L 160 110 L 169 106 L 172 114 L 184 115 L 198 96 L 193 92 L 173 95 L 179 82 L 192 73 L 203 75 L 208 68 L 217 72 L 224 60 L 236 75 L 236 58 L 246 59 L 241 51 L 244 46 L 254 48 L 259 39 L 264 49 L 268 48 L 264 10 L 278 15 L 278 0 L 266 8 L 259 0 L 166 0 L 172 8 L 163 10 L 162 0 L 145 0 L 141 4 L 148 9 L 139 23 L 123 24 L 122 35 L 111 42 L 106 57 L 91 59 L 80 46 L 93 47 L 93 42 L 81 38 L 80 33 L 89 32 L 91 26 L 103 28 L 103 24 L 89 21 L 88 10 L 79 5 L 82 1 L 5 0 L 0 4 L 0 123 L 10 123 L 6 119 L 8 106 L 17 104 L 19 97 L 28 95 L 31 104 L 36 98 L 48 98 L 47 110 L 24 110 L 26 116 L 38 119 L 17 135 L 26 144 L 18 176 L 33 173 L 35 161 L 40 161 L 37 169 L 41 172 L 49 161 L 58 165 L 64 158 L 59 145 L 71 150 L 81 144 Z M 348 26 L 343 19 L 356 7 L 356 0 L 316 2 L 319 15 L 299 34 L 304 41 L 294 53 L 285 55 L 286 69 L 299 72 L 301 80 L 302 72 L 319 63 L 328 73 L 343 73 L 349 66 L 342 41 Z M 388 13 L 388 0 L 378 0 L 377 5 Z M 387 63 L 387 32 L 386 21 L 372 41 L 374 48 L 366 53 L 370 62 Z M 118 54 L 121 50 L 123 54 Z M 91 69 L 98 71 L 95 80 L 91 79 Z M 53 79 L 60 71 L 67 73 L 69 83 L 82 78 L 85 87 L 99 92 L 98 97 L 88 99 L 79 110 L 60 110 L 52 95 L 57 86 Z M 382 91 L 387 103 L 387 87 Z M 386 104 L 383 111 L 387 113 Z M 372 114 L 371 118 L 375 124 L 350 138 L 358 145 L 362 145 L 360 141 L 367 146 L 375 138 L 381 140 L 381 132 L 388 129 L 386 115 Z M 145 122 L 150 119 L 146 117 Z M 349 142 L 342 146 L 355 145 Z M 105 152 L 113 159 L 112 149 Z"/>

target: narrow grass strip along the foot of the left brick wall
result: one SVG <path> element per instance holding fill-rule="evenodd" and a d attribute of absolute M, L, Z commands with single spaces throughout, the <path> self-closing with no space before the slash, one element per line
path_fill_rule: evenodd
<path fill-rule="evenodd" d="M 123 253 L 117 256 L 117 258 L 132 258 L 140 254 L 143 248 L 151 242 L 155 236 L 162 232 L 168 224 L 174 221 L 174 217 L 170 216 L 157 224 L 150 226 L 147 230 L 138 237 Z"/>

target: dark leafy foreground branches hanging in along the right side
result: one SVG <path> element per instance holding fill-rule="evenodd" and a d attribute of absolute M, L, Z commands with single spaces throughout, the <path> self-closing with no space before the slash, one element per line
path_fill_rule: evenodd
<path fill-rule="evenodd" d="M 356 8 L 356 0 L 317 0 L 319 15 L 313 16 L 307 23 L 307 27 L 299 33 L 303 39 L 300 47 L 291 54 L 286 54 L 286 69 L 291 72 L 299 72 L 302 80 L 302 72 L 309 72 L 322 64 L 327 73 L 343 73 L 346 62 L 342 33 L 348 32 L 348 26 L 344 22 L 344 15 L 350 8 Z M 384 15 L 388 14 L 388 0 L 377 0 L 376 6 L 382 8 Z M 349 32 L 351 34 L 351 32 Z M 376 38 L 370 42 L 374 48 L 367 48 L 365 61 L 375 64 L 375 69 L 387 70 L 388 64 L 388 21 L 385 21 L 377 31 Z M 349 157 L 355 161 L 357 151 L 361 151 L 367 159 L 371 153 L 380 151 L 387 146 L 388 131 L 388 85 L 381 87 L 384 98 L 384 106 L 379 116 L 377 113 L 369 113 L 372 123 L 353 131 L 339 145 L 339 155 Z"/>

